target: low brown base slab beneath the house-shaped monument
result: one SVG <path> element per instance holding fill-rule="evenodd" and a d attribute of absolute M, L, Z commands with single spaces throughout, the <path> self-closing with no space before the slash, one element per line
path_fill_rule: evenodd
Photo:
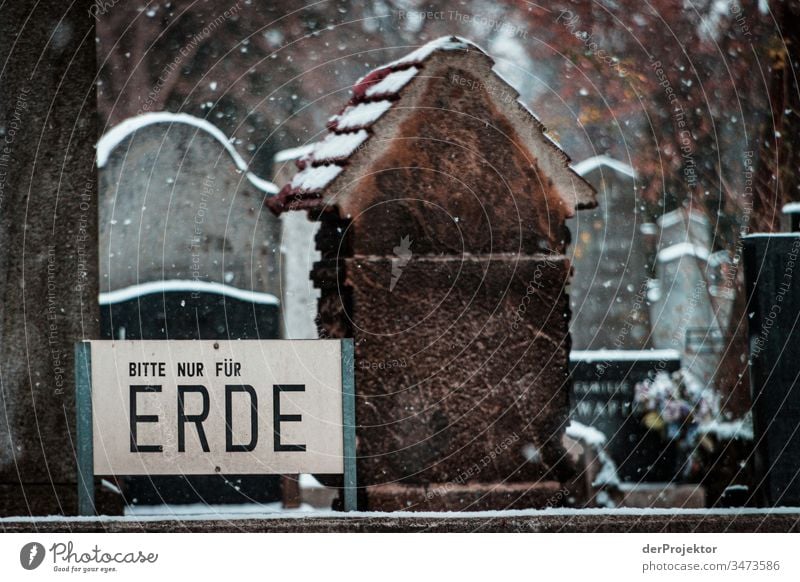
<path fill-rule="evenodd" d="M 366 494 L 370 511 L 544 509 L 563 506 L 568 496 L 556 481 L 373 485 Z"/>

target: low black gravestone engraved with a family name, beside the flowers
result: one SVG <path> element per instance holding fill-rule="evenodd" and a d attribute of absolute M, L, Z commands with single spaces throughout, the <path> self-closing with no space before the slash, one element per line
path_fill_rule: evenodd
<path fill-rule="evenodd" d="M 570 418 L 606 436 L 606 452 L 625 482 L 670 481 L 674 447 L 633 414 L 636 384 L 680 369 L 675 350 L 575 350 L 570 354 Z"/>

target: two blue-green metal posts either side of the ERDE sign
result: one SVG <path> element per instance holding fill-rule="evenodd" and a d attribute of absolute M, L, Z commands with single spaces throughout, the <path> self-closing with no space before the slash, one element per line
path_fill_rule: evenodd
<path fill-rule="evenodd" d="M 358 480 L 356 477 L 355 347 L 352 338 L 343 338 L 339 341 L 342 350 L 343 502 L 344 511 L 356 511 Z M 97 515 L 94 487 L 91 342 L 92 340 L 84 340 L 75 344 L 78 515 L 88 516 Z"/>

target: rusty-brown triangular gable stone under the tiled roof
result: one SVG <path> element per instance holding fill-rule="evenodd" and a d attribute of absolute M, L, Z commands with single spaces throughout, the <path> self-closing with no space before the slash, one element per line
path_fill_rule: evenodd
<path fill-rule="evenodd" d="M 521 128 L 475 73 L 442 65 L 430 74 L 415 115 L 387 113 L 384 151 L 354 184 L 349 199 L 358 203 L 343 208 L 353 217 L 353 254 L 391 254 L 399 233 L 418 254 L 563 250 L 570 210 L 525 153 Z"/>

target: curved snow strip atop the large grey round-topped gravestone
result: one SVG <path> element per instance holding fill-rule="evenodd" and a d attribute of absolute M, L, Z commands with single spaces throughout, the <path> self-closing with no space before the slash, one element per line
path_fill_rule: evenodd
<path fill-rule="evenodd" d="M 222 144 L 222 147 L 225 148 L 225 151 L 227 151 L 233 159 L 233 163 L 236 164 L 236 167 L 239 170 L 244 172 L 245 177 L 253 186 L 267 194 L 278 193 L 278 187 L 275 184 L 256 176 L 248 169 L 247 162 L 244 161 L 244 158 L 242 158 L 242 156 L 239 155 L 239 152 L 236 151 L 236 148 L 233 147 L 230 139 L 226 137 L 216 125 L 212 124 L 208 120 L 201 119 L 187 113 L 156 111 L 153 113 L 144 113 L 135 117 L 129 117 L 122 123 L 115 125 L 106 133 L 104 133 L 103 137 L 100 138 L 100 141 L 97 142 L 97 167 L 105 167 L 105 165 L 108 163 L 108 158 L 111 156 L 111 152 L 114 151 L 114 149 L 128 136 L 143 127 L 156 123 L 179 123 L 202 129 L 211 137 L 216 139 L 220 144 Z"/>

